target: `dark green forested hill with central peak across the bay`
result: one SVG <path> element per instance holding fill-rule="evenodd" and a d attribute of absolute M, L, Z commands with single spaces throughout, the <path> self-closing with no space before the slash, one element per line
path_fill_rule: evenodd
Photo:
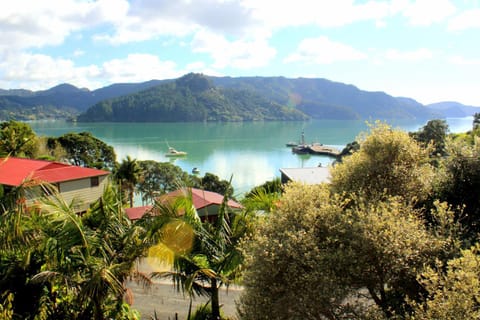
<path fill-rule="evenodd" d="M 102 101 L 79 121 L 257 121 L 305 120 L 302 112 L 254 90 L 220 88 L 205 76 L 188 74 L 135 94 Z"/>

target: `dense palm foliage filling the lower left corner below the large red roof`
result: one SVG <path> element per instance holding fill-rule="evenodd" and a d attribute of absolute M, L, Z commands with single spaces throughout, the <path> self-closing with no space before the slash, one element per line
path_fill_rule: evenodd
<path fill-rule="evenodd" d="M 145 248 L 115 189 L 80 217 L 53 189 L 33 208 L 18 205 L 24 187 L 0 213 L 0 291 L 13 319 L 136 319 L 123 283 Z"/>

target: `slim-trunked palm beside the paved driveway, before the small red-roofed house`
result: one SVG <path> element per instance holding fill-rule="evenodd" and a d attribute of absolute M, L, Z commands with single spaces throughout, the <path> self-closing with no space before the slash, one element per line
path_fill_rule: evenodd
<path fill-rule="evenodd" d="M 187 189 L 188 190 L 188 189 Z M 248 224 L 245 213 L 229 212 L 228 198 L 219 209 L 215 222 L 200 222 L 191 200 L 191 192 L 174 202 L 157 201 L 155 215 L 147 216 L 143 223 L 150 225 L 149 239 L 158 240 L 173 252 L 173 265 L 170 271 L 154 272 L 152 277 L 170 277 L 177 289 L 186 292 L 190 299 L 196 295 L 206 295 L 212 307 L 212 319 L 220 319 L 219 288 L 238 280 L 243 256 L 238 242 L 246 234 Z M 174 235 L 169 234 L 175 225 Z M 184 229 L 192 228 L 191 249 L 175 250 L 177 244 L 168 239 L 184 237 Z M 168 257 L 162 257 L 168 260 Z M 190 315 L 190 310 L 189 310 Z"/>

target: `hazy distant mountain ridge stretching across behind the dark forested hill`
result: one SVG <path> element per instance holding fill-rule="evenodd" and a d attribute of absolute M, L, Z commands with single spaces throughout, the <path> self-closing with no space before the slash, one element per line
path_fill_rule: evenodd
<path fill-rule="evenodd" d="M 424 106 L 411 98 L 392 97 L 384 92 L 363 91 L 353 85 L 321 78 L 291 79 L 285 77 L 212 77 L 200 74 L 189 75 L 195 75 L 196 77 L 207 79 L 217 93 L 222 92 L 221 94 L 225 94 L 225 92 L 228 92 L 225 97 L 229 97 L 228 99 L 240 99 L 243 103 L 249 105 L 248 108 L 254 106 L 255 100 L 257 103 L 262 100 L 264 106 L 270 103 L 277 107 L 285 107 L 287 108 L 286 110 L 291 111 L 294 109 L 310 118 L 432 119 L 471 116 L 476 113 L 477 110 L 480 110 L 477 109 L 477 107 L 465 106 L 458 102 L 440 102 Z M 123 99 L 122 97 L 131 99 L 131 96 L 134 95 L 135 99 L 138 101 L 139 97 L 145 94 L 145 91 L 156 87 L 160 87 L 161 89 L 158 90 L 162 91 L 162 94 L 164 95 L 179 94 L 180 96 L 180 93 L 175 92 L 175 89 L 170 88 L 167 90 L 164 86 L 166 84 L 175 83 L 181 78 L 150 80 L 142 83 L 112 84 L 92 91 L 88 89 L 80 89 L 70 84 L 60 84 L 43 91 L 0 89 L 0 120 L 12 118 L 28 120 L 51 117 L 52 115 L 54 117 L 75 116 L 81 113 L 86 113 L 89 108 L 99 103 L 106 101 L 111 102 L 112 99 L 119 99 L 118 101 L 120 101 Z M 197 93 L 193 93 L 193 95 L 196 94 Z M 235 95 L 237 96 L 234 97 Z M 244 99 L 242 96 L 247 96 L 248 98 Z M 197 98 L 199 97 L 195 97 L 195 99 Z M 251 100 L 247 101 L 248 99 Z M 144 99 L 140 98 L 140 100 Z M 163 98 L 157 99 L 157 101 L 151 100 L 150 106 L 157 105 L 161 100 L 166 101 Z M 215 107 L 205 105 L 213 103 L 208 99 L 202 100 L 202 98 L 200 98 L 197 102 L 199 101 L 203 107 Z M 221 104 L 221 100 L 215 100 L 214 104 L 215 103 Z M 231 106 L 235 105 L 234 101 L 230 101 L 229 103 Z M 253 103 L 253 105 L 250 105 L 251 103 Z M 193 110 L 193 108 L 198 107 L 198 105 L 186 107 Z M 218 106 L 215 108 L 217 107 Z M 253 114 L 250 114 L 246 119 L 243 119 L 243 116 L 238 113 L 243 107 L 237 105 L 237 110 L 229 109 L 228 112 L 231 113 L 231 117 L 224 115 L 224 121 L 254 119 L 255 117 Z M 142 108 L 146 108 L 146 106 L 143 105 Z M 137 108 L 136 112 L 141 113 L 141 108 Z M 175 111 L 171 110 L 171 112 Z M 252 111 L 250 110 L 248 112 Z M 262 112 L 265 113 L 266 111 L 259 111 L 259 114 L 262 114 Z M 263 116 L 265 115 L 266 114 Z M 260 116 L 260 119 L 262 119 L 263 116 Z M 214 116 L 211 121 L 218 121 L 215 120 L 217 119 L 215 117 L 216 116 Z M 283 115 L 267 116 L 269 119 L 274 119 L 276 117 L 282 119 Z M 80 117 L 80 119 L 81 118 L 82 117 Z M 190 114 L 190 118 L 187 117 L 182 119 L 181 117 L 174 115 L 172 115 L 171 118 L 177 119 L 175 121 L 199 121 L 196 116 L 193 117 L 193 119 L 192 114 Z"/>

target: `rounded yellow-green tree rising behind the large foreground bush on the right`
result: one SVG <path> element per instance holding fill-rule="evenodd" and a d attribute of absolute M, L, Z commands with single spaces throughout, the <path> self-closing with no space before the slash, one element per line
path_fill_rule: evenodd
<path fill-rule="evenodd" d="M 337 192 L 362 194 L 367 199 L 401 196 L 421 200 L 431 193 L 433 168 L 429 151 L 400 130 L 377 123 L 364 134 L 360 149 L 331 170 Z"/>

